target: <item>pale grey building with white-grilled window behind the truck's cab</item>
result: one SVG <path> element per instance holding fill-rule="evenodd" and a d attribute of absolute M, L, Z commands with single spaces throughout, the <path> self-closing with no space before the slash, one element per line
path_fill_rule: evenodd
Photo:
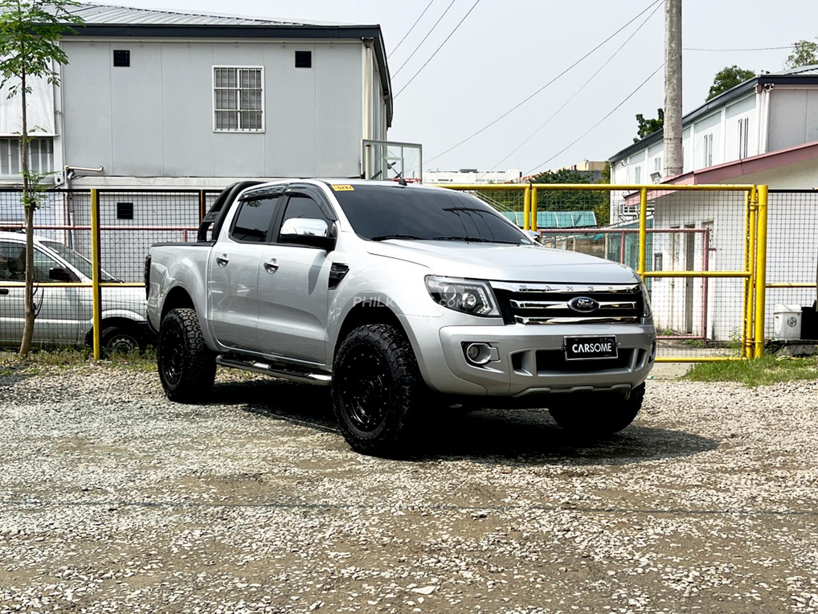
<path fill-rule="evenodd" d="M 379 25 L 82 3 L 61 87 L 34 83 L 34 170 L 101 167 L 73 187 L 222 187 L 360 177 L 392 89 Z M 20 99 L 0 92 L 0 182 L 20 183 Z M 80 175 L 86 175 L 80 178 Z"/>

